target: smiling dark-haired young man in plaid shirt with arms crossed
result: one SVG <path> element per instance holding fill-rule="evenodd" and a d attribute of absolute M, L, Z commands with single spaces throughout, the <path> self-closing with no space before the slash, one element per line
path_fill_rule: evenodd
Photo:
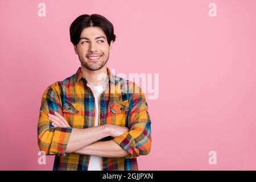
<path fill-rule="evenodd" d="M 44 91 L 38 144 L 55 155 L 53 170 L 138 170 L 151 148 L 151 121 L 142 89 L 106 66 L 113 24 L 81 15 L 69 27 L 81 67 Z"/>

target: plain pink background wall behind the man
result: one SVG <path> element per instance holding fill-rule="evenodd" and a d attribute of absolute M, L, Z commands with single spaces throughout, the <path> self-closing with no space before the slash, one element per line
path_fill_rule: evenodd
<path fill-rule="evenodd" d="M 159 73 L 159 98 L 146 94 L 152 147 L 139 169 L 256 169 L 256 1 L 45 0 L 0 2 L 1 170 L 52 170 L 54 156 L 38 164 L 40 100 L 80 66 L 69 25 L 93 13 L 117 35 L 108 67 Z"/>

